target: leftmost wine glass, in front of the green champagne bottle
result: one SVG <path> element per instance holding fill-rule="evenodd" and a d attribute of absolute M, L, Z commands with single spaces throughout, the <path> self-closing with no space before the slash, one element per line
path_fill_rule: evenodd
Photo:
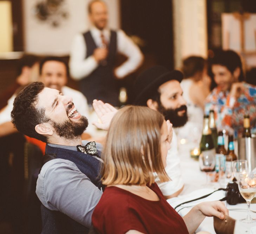
<path fill-rule="evenodd" d="M 206 173 L 206 185 L 209 186 L 209 172 L 214 171 L 215 167 L 215 154 L 207 153 L 203 151 L 199 155 L 199 166 L 201 171 Z"/>

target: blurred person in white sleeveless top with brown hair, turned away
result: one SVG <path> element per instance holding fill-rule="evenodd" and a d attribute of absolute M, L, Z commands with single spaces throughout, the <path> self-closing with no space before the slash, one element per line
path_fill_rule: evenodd
<path fill-rule="evenodd" d="M 204 101 L 210 93 L 211 79 L 207 74 L 207 62 L 200 56 L 189 56 L 182 62 L 184 78 L 180 82 L 186 101 L 188 122 L 177 128 L 179 141 L 198 146 L 203 128 Z"/>

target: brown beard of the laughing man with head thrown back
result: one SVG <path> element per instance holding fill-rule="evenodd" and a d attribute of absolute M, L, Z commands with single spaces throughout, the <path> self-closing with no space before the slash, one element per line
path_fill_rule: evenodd
<path fill-rule="evenodd" d="M 55 121 L 52 121 L 52 123 L 56 133 L 68 140 L 81 136 L 88 126 L 88 120 L 85 116 L 81 116 L 79 122 L 66 120 L 64 123 L 57 123 Z"/>

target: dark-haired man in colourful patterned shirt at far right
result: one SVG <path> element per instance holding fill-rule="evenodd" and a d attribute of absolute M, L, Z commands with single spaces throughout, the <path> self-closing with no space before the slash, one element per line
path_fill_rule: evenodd
<path fill-rule="evenodd" d="M 245 114 L 250 116 L 251 132 L 256 131 L 256 87 L 244 82 L 240 56 L 221 50 L 209 60 L 215 88 L 206 99 L 205 113 L 215 112 L 217 129 L 241 133 Z"/>

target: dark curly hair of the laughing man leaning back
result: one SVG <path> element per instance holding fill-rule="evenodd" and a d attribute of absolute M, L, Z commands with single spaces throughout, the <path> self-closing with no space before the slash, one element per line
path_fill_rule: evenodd
<path fill-rule="evenodd" d="M 47 137 L 35 131 L 35 126 L 48 122 L 50 119 L 45 116 L 45 109 L 35 108 L 38 101 L 38 94 L 44 89 L 42 82 L 33 82 L 26 86 L 14 99 L 11 112 L 12 123 L 19 132 L 47 142 Z"/>

